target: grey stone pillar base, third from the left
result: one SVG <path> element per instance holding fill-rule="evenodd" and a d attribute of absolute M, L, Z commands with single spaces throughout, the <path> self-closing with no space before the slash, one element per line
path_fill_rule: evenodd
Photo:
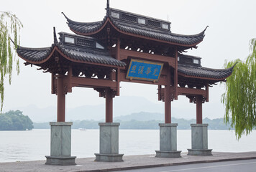
<path fill-rule="evenodd" d="M 155 151 L 158 158 L 179 158 L 177 151 L 177 126 L 176 123 L 160 123 L 160 151 Z"/>

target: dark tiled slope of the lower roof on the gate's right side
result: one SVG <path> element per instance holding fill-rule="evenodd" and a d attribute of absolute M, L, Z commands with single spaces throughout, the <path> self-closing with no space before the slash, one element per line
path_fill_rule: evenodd
<path fill-rule="evenodd" d="M 216 70 L 201 66 L 183 65 L 178 63 L 178 72 L 192 77 L 204 77 L 214 80 L 223 80 L 232 74 L 234 67 L 229 69 Z"/>

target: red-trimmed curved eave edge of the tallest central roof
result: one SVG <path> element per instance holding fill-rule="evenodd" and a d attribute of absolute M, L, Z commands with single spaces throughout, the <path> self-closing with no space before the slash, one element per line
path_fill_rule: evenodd
<path fill-rule="evenodd" d="M 71 21 L 71 20 L 69 20 L 69 21 Z M 79 24 L 78 22 L 76 22 L 76 23 Z M 140 37 L 142 39 L 149 39 L 149 40 L 152 40 L 152 41 L 155 41 L 155 42 L 163 42 L 165 44 L 172 44 L 172 45 L 177 45 L 177 46 L 187 47 L 187 48 L 196 47 L 197 44 L 202 42 L 203 39 L 204 39 L 204 32 L 206 30 L 206 29 L 204 29 L 203 32 L 201 32 L 199 34 L 196 34 L 196 35 L 186 35 L 186 37 L 198 37 L 200 35 L 202 36 L 202 39 L 200 41 L 198 41 L 196 43 L 193 43 L 193 44 L 180 44 L 180 43 L 177 43 L 177 42 L 170 42 L 170 41 L 166 41 L 166 40 L 163 40 L 163 39 L 156 39 L 156 38 L 152 38 L 152 37 L 146 37 L 146 36 L 142 36 L 140 34 L 132 34 L 132 33 L 129 33 L 129 32 L 124 32 L 121 29 L 119 29 L 118 27 L 116 27 L 116 25 L 111 21 L 111 19 L 109 17 L 106 18 L 104 24 L 102 24 L 101 27 L 99 27 L 99 29 L 97 29 L 96 31 L 83 33 L 83 32 L 78 32 L 78 31 L 76 31 L 72 28 L 70 28 L 70 30 L 72 32 L 76 33 L 76 34 L 81 34 L 81 35 L 84 35 L 84 36 L 91 36 L 91 35 L 98 34 L 99 32 L 101 32 L 104 29 L 104 27 L 106 26 L 106 24 L 108 24 L 108 23 L 111 24 L 111 26 L 114 27 L 114 29 L 116 29 L 116 31 L 120 32 L 121 34 L 129 35 L 131 37 Z M 83 23 L 83 24 L 85 24 L 85 23 Z M 182 37 L 182 35 L 179 35 L 179 34 L 173 34 L 173 35 Z"/>

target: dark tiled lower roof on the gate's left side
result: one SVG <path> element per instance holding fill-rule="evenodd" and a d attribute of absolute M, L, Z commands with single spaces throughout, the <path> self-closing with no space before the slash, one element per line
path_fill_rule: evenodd
<path fill-rule="evenodd" d="M 65 33 L 61 32 L 60 34 Z M 73 34 L 68 35 L 70 36 Z M 78 37 L 80 41 L 83 41 L 82 43 L 85 43 L 84 41 L 89 39 L 88 37 L 77 35 L 73 35 L 73 37 Z M 89 41 L 91 40 L 89 39 Z M 19 47 L 17 49 L 17 53 L 19 54 L 20 57 L 22 57 L 25 60 L 28 60 L 29 62 L 35 62 L 36 64 L 40 64 L 40 62 L 44 61 L 45 59 L 47 59 L 47 57 L 49 57 L 54 47 L 57 47 L 60 50 L 60 52 L 62 52 L 63 54 L 65 54 L 65 56 L 69 58 L 70 61 L 81 63 L 90 62 L 96 64 L 111 65 L 116 67 L 124 67 L 126 65 L 126 63 L 111 57 L 106 49 L 96 49 L 95 47 L 87 47 L 87 44 L 86 47 L 79 47 L 78 45 L 67 44 L 62 40 L 60 40 L 59 43 L 52 44 L 52 47 L 47 48 Z"/>

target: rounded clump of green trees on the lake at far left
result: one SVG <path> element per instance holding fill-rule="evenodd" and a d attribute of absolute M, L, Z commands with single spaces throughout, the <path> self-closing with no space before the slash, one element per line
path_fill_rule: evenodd
<path fill-rule="evenodd" d="M 32 130 L 32 120 L 19 110 L 10 110 L 0 115 L 0 130 Z"/>

